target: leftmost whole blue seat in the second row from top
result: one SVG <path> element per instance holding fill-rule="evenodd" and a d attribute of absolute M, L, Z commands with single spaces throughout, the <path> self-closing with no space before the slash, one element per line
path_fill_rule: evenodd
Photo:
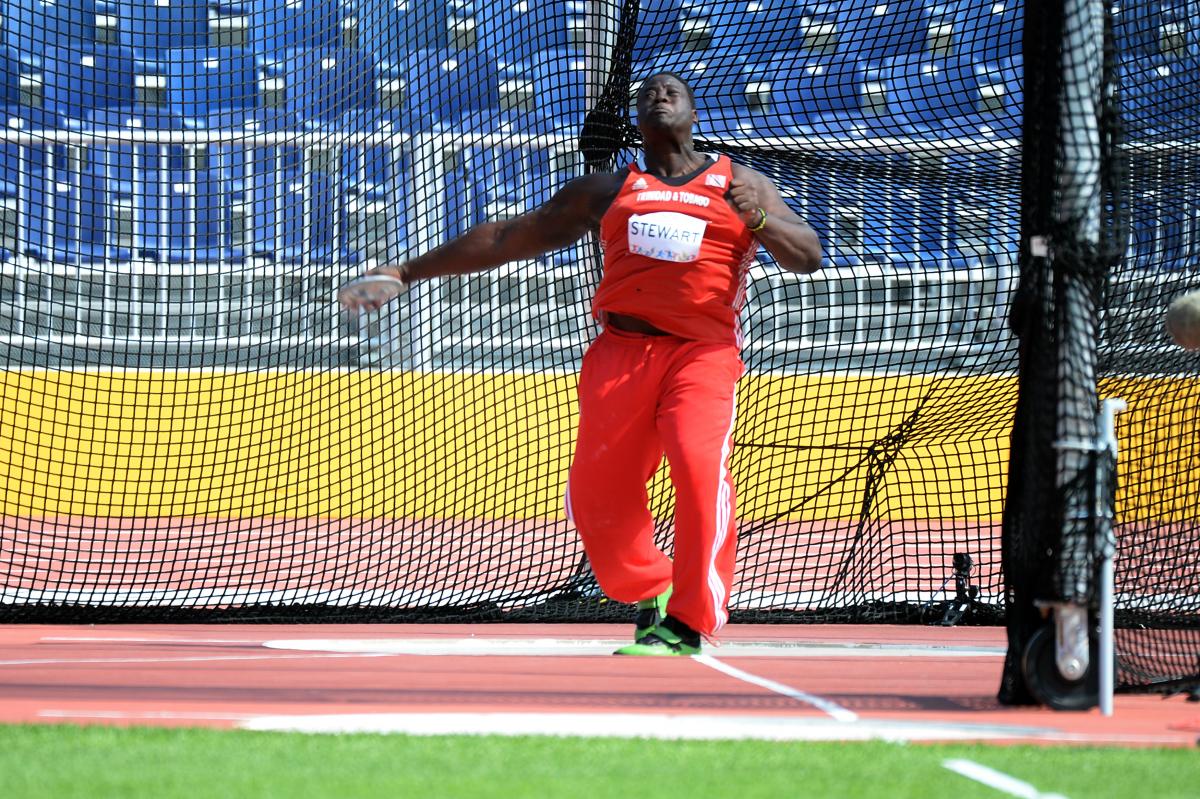
<path fill-rule="evenodd" d="M 48 110 L 83 119 L 91 110 L 134 102 L 133 54 L 120 47 L 50 48 L 46 61 Z"/>

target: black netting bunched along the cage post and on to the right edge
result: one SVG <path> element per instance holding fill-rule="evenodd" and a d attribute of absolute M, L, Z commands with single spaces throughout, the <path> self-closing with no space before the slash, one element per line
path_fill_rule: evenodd
<path fill-rule="evenodd" d="M 1188 161 L 1196 140 L 1188 130 L 1200 108 L 1194 86 L 1178 77 L 1168 86 L 1198 42 L 1188 34 L 1184 46 L 1169 34 L 1183 35 L 1181 13 L 1172 4 L 1073 0 L 1026 12 L 1025 246 L 1012 316 L 1020 400 L 1003 536 L 1006 702 L 1032 701 L 1020 656 L 1046 624 L 1044 603 L 1072 602 L 1097 617 L 1096 509 L 1105 504 L 1116 513 L 1118 687 L 1200 679 L 1200 572 L 1184 554 L 1200 537 L 1200 504 L 1182 465 L 1194 457 L 1186 431 L 1200 361 L 1163 331 L 1171 299 L 1200 282 L 1193 234 L 1166 210 L 1194 208 L 1196 184 L 1156 166 Z M 1148 206 L 1147 197 L 1163 205 Z M 1114 482 L 1097 474 L 1105 456 L 1086 451 L 1102 433 L 1097 400 L 1108 397 L 1129 407 L 1116 426 L 1115 501 Z"/>

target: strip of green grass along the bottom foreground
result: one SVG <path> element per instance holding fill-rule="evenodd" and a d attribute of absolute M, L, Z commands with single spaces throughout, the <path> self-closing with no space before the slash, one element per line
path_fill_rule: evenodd
<path fill-rule="evenodd" d="M 0 794 L 25 797 L 1006 797 L 972 759 L 1070 799 L 1195 797 L 1190 750 L 886 743 L 305 735 L 0 726 Z"/>

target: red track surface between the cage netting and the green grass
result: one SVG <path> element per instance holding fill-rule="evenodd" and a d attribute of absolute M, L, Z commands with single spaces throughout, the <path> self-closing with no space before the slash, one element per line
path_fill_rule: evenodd
<path fill-rule="evenodd" d="M 620 638 L 611 625 L 121 625 L 0 627 L 0 722 L 230 727 L 265 715 L 634 713 L 826 720 L 779 691 L 689 659 L 355 655 L 268 649 L 272 639 Z M 754 626 L 725 642 L 917 644 L 1002 649 L 992 627 Z M 1039 741 L 1193 745 L 1200 705 L 1117 696 L 1116 713 L 1003 708 L 1002 659 L 749 657 L 727 666 L 816 695 L 863 721 L 1036 727 Z M 1003 740 L 1014 740 L 1007 737 Z"/>

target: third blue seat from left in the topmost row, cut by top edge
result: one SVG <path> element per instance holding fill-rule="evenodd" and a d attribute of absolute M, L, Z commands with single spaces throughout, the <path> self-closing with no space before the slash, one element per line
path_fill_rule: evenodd
<path fill-rule="evenodd" d="M 338 0 L 251 0 L 250 49 L 263 62 L 270 62 L 287 50 L 340 47 L 346 20 L 347 11 Z"/>

